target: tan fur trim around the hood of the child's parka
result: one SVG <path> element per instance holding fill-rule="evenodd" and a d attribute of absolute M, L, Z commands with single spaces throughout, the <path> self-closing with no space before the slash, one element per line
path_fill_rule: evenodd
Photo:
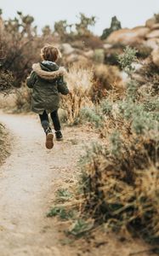
<path fill-rule="evenodd" d="M 46 79 L 46 80 L 57 79 L 60 76 L 65 76 L 67 73 L 65 70 L 65 67 L 59 67 L 58 70 L 54 70 L 54 71 L 43 70 L 40 63 L 33 64 L 32 70 L 35 71 L 35 73 L 37 73 L 37 75 L 40 78 Z"/>

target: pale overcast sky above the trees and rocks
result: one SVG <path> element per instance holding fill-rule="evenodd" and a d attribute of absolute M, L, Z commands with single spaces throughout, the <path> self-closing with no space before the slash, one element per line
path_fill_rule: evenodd
<path fill-rule="evenodd" d="M 122 27 L 145 25 L 145 20 L 159 13 L 159 0 L 0 0 L 3 18 L 13 18 L 16 11 L 32 15 L 38 31 L 49 25 L 54 28 L 54 21 L 68 20 L 77 22 L 79 13 L 97 17 L 93 28 L 95 34 L 110 26 L 111 17 L 116 15 Z"/>

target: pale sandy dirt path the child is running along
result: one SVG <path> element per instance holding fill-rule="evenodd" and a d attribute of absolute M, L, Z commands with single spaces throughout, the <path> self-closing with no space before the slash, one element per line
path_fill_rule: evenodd
<path fill-rule="evenodd" d="M 11 156 L 0 169 L 0 255 L 63 255 L 56 228 L 49 228 L 45 217 L 53 196 L 49 190 L 56 182 L 73 178 L 89 137 L 82 133 L 81 138 L 75 128 L 65 129 L 67 139 L 47 150 L 34 116 L 1 113 L 0 122 L 9 129 L 12 143 Z"/>

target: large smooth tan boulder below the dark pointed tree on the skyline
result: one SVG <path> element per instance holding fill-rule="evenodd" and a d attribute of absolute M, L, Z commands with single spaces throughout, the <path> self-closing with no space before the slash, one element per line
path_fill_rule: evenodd
<path fill-rule="evenodd" d="M 138 44 L 142 43 L 149 32 L 150 29 L 145 26 L 137 26 L 133 29 L 120 29 L 116 32 L 112 32 L 106 42 L 108 44 Z"/>

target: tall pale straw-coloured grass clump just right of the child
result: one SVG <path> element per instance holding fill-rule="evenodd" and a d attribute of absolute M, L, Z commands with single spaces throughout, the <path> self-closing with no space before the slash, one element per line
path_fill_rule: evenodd
<path fill-rule="evenodd" d="M 91 67 L 74 64 L 69 68 L 66 82 L 71 95 L 61 97 L 61 108 L 66 112 L 69 125 L 77 124 L 81 109 L 92 106 L 89 91 L 93 86 L 93 71 Z"/>

